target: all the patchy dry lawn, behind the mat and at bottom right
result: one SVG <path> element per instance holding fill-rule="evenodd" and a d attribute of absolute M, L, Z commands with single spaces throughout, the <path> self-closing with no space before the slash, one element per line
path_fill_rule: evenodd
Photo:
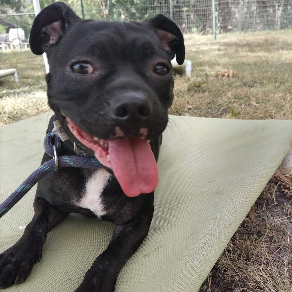
<path fill-rule="evenodd" d="M 171 114 L 291 119 L 292 30 L 185 36 L 192 77 L 175 74 Z M 43 59 L 0 52 L 0 126 L 48 110 Z M 277 171 L 201 286 L 201 292 L 292 292 L 292 175 Z"/>

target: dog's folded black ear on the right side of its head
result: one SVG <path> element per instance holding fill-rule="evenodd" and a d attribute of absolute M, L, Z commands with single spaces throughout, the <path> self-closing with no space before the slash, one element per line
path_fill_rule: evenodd
<path fill-rule="evenodd" d="M 174 58 L 179 65 L 185 61 L 185 44 L 183 34 L 178 26 L 163 14 L 144 20 L 142 24 L 155 30 L 165 50 L 171 59 Z"/>

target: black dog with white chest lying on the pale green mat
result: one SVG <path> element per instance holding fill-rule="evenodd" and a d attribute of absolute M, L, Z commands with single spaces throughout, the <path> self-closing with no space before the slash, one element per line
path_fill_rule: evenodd
<path fill-rule="evenodd" d="M 55 112 L 48 131 L 58 120 L 69 136 L 60 155 L 74 154 L 73 141 L 77 154 L 95 156 L 103 167 L 61 168 L 39 181 L 31 223 L 0 255 L 0 288 L 25 281 L 48 232 L 79 212 L 109 220 L 115 230 L 76 291 L 114 291 L 152 220 L 156 161 L 173 100 L 170 60 L 176 54 L 183 63 L 183 35 L 161 14 L 139 23 L 84 21 L 57 2 L 35 18 L 29 42 L 34 54 L 48 55 Z"/>

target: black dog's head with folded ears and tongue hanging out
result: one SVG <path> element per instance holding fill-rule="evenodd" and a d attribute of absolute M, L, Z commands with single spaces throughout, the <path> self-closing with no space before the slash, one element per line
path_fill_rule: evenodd
<path fill-rule="evenodd" d="M 114 171 L 126 194 L 152 192 L 157 166 L 147 140 L 167 125 L 170 61 L 185 58 L 177 25 L 162 14 L 85 21 L 56 2 L 36 16 L 29 44 L 34 54 L 47 53 L 48 102 L 71 138 Z"/>

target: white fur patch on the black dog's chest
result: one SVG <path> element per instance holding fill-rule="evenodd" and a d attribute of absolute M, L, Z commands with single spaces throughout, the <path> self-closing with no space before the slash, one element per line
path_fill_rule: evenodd
<path fill-rule="evenodd" d="M 82 198 L 77 206 L 91 210 L 98 218 L 106 213 L 101 202 L 101 193 L 109 180 L 110 173 L 104 168 L 99 169 L 86 182 Z"/>

